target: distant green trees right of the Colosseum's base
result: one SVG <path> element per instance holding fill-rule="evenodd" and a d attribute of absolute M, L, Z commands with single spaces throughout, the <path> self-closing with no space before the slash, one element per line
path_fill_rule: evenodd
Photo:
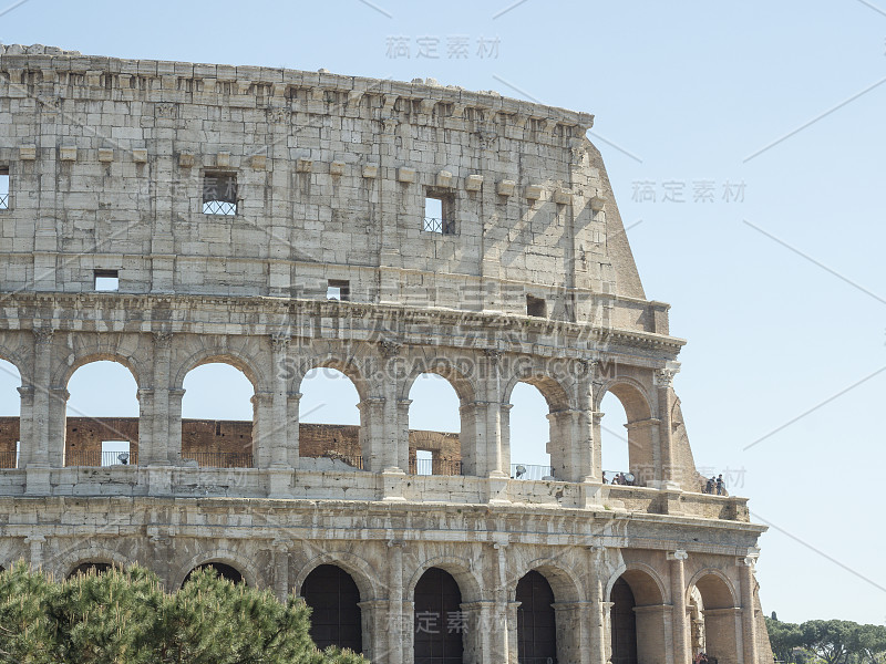
<path fill-rule="evenodd" d="M 780 662 L 886 664 L 883 625 L 859 625 L 846 620 L 811 620 L 797 625 L 767 618 L 766 631 Z"/>

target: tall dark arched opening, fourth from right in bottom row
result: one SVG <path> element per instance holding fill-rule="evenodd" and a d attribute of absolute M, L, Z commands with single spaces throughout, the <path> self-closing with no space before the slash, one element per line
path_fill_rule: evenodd
<path fill-rule="evenodd" d="M 415 584 L 413 652 L 415 664 L 462 664 L 467 620 L 455 579 L 431 568 Z"/>

